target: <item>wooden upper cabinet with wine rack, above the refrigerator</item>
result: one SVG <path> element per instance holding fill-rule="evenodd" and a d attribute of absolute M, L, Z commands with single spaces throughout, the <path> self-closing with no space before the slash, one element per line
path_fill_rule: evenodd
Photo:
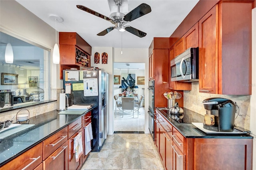
<path fill-rule="evenodd" d="M 76 32 L 60 32 L 60 79 L 64 69 L 91 67 L 92 47 Z"/>

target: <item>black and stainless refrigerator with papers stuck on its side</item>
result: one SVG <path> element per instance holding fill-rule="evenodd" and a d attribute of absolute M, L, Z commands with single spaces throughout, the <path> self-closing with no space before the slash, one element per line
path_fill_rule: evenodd
<path fill-rule="evenodd" d="M 67 105 L 92 105 L 92 151 L 100 151 L 107 138 L 108 73 L 94 67 L 63 70 Z"/>

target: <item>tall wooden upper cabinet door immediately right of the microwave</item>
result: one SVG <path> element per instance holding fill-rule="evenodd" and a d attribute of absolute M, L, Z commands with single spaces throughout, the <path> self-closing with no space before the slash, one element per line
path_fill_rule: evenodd
<path fill-rule="evenodd" d="M 199 92 L 218 94 L 218 5 L 199 20 Z"/>

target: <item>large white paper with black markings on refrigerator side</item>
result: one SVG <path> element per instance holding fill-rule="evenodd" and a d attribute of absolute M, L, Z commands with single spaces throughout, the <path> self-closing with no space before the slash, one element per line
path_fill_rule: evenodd
<path fill-rule="evenodd" d="M 98 79 L 84 79 L 84 96 L 98 96 Z"/>

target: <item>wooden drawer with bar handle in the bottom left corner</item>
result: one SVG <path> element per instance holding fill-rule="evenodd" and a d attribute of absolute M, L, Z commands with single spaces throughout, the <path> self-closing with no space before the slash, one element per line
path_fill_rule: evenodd
<path fill-rule="evenodd" d="M 43 157 L 43 143 L 34 146 L 30 150 L 24 152 L 14 160 L 0 167 L 0 170 L 33 170 L 40 163 Z"/>

